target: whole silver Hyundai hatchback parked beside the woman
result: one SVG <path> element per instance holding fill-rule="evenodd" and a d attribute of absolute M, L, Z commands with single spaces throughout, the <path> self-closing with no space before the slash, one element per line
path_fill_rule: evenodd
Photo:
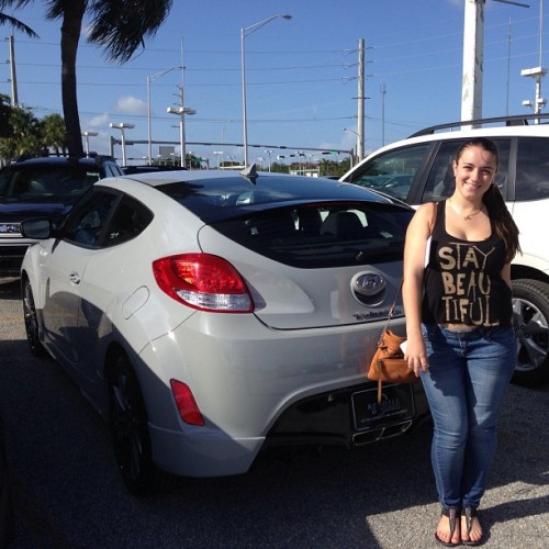
<path fill-rule="evenodd" d="M 27 340 L 109 418 L 133 492 L 246 472 L 272 445 L 373 442 L 428 416 L 366 366 L 413 209 L 300 176 L 171 171 L 96 183 L 22 267 Z M 393 324 L 403 330 L 402 306 Z"/>

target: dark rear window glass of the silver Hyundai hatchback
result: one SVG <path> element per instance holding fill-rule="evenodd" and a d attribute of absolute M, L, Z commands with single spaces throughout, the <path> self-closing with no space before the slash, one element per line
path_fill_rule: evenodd
<path fill-rule="evenodd" d="M 318 203 L 264 210 L 212 226 L 270 259 L 313 269 L 402 260 L 412 213 L 382 203 Z"/>

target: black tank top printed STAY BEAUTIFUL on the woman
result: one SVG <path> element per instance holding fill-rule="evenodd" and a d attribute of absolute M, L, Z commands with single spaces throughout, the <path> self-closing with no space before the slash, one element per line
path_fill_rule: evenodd
<path fill-rule="evenodd" d="M 446 232 L 446 200 L 439 202 L 425 268 L 422 320 L 427 324 L 511 326 L 512 292 L 502 278 L 505 244 L 492 225 L 481 242 Z"/>

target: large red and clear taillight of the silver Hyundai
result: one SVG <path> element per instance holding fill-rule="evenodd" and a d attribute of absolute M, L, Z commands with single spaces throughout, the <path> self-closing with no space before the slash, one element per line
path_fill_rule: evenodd
<path fill-rule="evenodd" d="M 238 271 L 210 254 L 182 254 L 153 262 L 160 289 L 176 301 L 201 311 L 251 313 L 254 302 Z"/>

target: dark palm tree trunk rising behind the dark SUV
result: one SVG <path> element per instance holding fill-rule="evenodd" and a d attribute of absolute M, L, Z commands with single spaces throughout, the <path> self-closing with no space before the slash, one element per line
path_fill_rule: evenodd
<path fill-rule="evenodd" d="M 80 117 L 76 85 L 76 57 L 82 29 L 86 0 L 71 0 L 65 3 L 61 25 L 61 98 L 63 114 L 67 128 L 70 156 L 83 156 Z"/>

